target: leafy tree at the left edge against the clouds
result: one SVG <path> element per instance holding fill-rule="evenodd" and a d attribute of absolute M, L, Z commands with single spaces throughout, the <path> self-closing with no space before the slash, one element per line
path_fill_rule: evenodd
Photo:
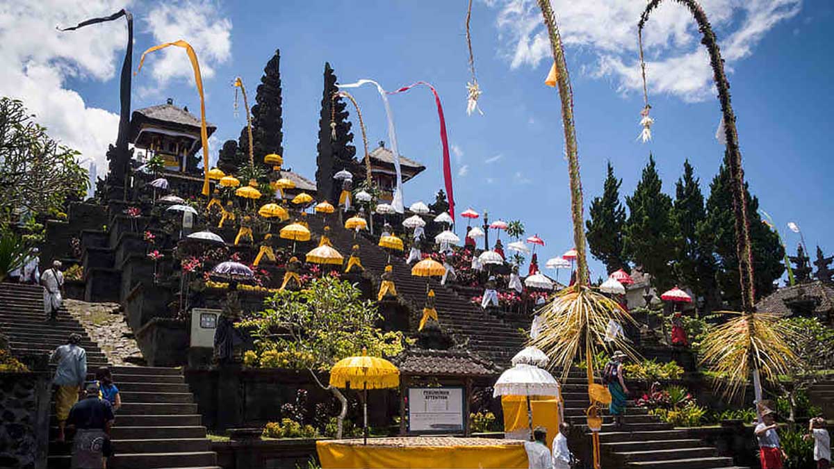
<path fill-rule="evenodd" d="M 0 98 L 0 216 L 64 211 L 67 199 L 83 197 L 89 182 L 79 156 L 51 139 L 23 102 Z"/>

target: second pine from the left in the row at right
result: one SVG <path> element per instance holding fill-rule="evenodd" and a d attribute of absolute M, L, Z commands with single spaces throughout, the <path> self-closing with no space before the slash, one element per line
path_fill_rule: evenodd
<path fill-rule="evenodd" d="M 625 197 L 629 217 L 625 223 L 623 252 L 643 272 L 651 274 L 651 284 L 657 290 L 664 291 L 676 283 L 671 265 L 675 258 L 675 228 L 671 219 L 672 199 L 661 189 L 663 182 L 650 154 L 634 194 Z"/>

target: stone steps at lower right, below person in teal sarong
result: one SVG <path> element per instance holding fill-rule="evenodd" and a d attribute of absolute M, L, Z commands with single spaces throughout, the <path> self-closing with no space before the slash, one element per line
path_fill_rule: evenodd
<path fill-rule="evenodd" d="M 560 379 L 560 384 L 565 400 L 565 420 L 585 428 L 585 410 L 588 407 L 585 371 L 570 371 L 566 379 Z M 678 430 L 649 415 L 645 408 L 635 406 L 633 401 L 629 401 L 623 420 L 625 425 L 616 428 L 611 416 L 603 416 L 600 446 L 604 467 L 741 469 L 733 464 L 731 457 L 719 456 L 715 447 L 688 437 L 686 430 Z M 585 433 L 590 445 L 590 432 Z"/>

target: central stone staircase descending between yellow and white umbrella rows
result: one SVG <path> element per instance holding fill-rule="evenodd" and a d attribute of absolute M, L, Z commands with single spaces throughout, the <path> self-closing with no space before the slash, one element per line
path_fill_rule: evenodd
<path fill-rule="evenodd" d="M 310 229 L 314 233 L 323 233 L 324 224 L 319 216 L 309 216 Z M 365 268 L 365 276 L 374 285 L 374 294 L 379 290 L 379 275 L 388 264 L 388 253 L 371 240 L 357 236 L 354 232 L 338 223 L 330 215 L 330 239 L 334 247 L 347 257 L 354 244 L 359 245 L 360 258 Z M 412 317 L 419 320 L 425 305 L 425 277 L 413 277 L 411 266 L 405 264 L 401 255 L 392 255 L 390 264 L 394 268 L 394 285 L 400 300 L 404 300 L 412 310 Z M 510 366 L 510 359 L 524 348 L 525 336 L 512 325 L 499 320 L 481 310 L 468 298 L 462 298 L 454 290 L 440 285 L 440 279 L 431 279 L 430 287 L 435 290 L 435 307 L 440 317 L 440 325 L 451 335 L 469 340 L 469 349 L 477 352 L 496 365 Z M 417 323 L 412 321 L 416 330 Z"/>

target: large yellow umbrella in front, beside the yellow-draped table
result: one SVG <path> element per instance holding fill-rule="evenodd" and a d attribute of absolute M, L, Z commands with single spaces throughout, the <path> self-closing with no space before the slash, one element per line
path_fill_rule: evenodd
<path fill-rule="evenodd" d="M 361 387 L 364 416 L 364 444 L 368 444 L 368 390 L 399 386 L 399 370 L 393 363 L 376 356 L 349 356 L 330 369 L 330 386 L 359 390 Z"/>

